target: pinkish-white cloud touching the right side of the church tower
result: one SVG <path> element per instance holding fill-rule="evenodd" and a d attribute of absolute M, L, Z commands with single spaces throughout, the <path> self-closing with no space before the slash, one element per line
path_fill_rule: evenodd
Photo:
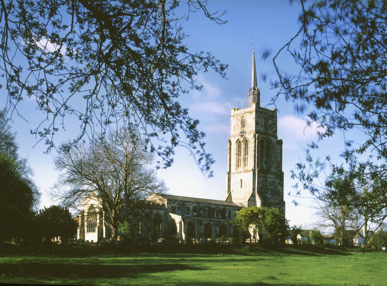
<path fill-rule="evenodd" d="M 315 121 L 310 122 L 307 117 L 301 119 L 286 115 L 278 118 L 278 138 L 283 139 L 284 149 L 305 146 L 306 142 L 318 139 L 317 131 L 323 131 L 318 125 Z"/>

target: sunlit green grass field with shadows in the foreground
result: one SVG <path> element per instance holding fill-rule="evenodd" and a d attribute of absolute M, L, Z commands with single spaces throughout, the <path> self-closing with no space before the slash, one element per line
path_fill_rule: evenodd
<path fill-rule="evenodd" d="M 386 286 L 387 253 L 1 255 L 0 275 L 24 284 Z"/>

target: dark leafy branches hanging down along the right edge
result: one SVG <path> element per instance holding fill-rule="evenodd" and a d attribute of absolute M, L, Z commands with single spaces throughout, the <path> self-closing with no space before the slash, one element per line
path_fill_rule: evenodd
<path fill-rule="evenodd" d="M 341 177 L 350 183 L 339 189 L 314 184 L 324 164 L 313 159 L 311 150 L 317 145 L 310 144 L 305 162 L 293 172 L 301 183 L 297 190 L 303 187 L 331 202 L 347 198 L 347 206 L 372 206 L 378 213 L 387 206 L 387 2 L 316 0 L 307 5 L 301 0 L 301 6 L 300 29 L 273 59 L 279 76 L 273 82 L 278 88 L 273 101 L 284 95 L 299 112 L 307 110 L 311 121 L 322 127 L 320 139 L 356 128 L 364 140 L 359 136 L 356 144 L 345 142 L 345 166 L 327 157 L 332 174 L 327 180 Z M 291 74 L 283 73 L 278 64 L 278 56 L 286 52 L 300 68 Z M 365 186 L 366 193 L 358 191 Z"/>

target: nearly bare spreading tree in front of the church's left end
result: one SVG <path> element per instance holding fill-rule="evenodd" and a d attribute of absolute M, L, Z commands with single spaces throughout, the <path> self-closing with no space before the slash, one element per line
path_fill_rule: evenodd
<path fill-rule="evenodd" d="M 115 238 L 125 210 L 130 215 L 141 209 L 151 194 L 167 190 L 149 166 L 152 159 L 142 139 L 128 127 L 113 130 L 106 137 L 98 134 L 89 146 L 85 142 L 62 144 L 54 158 L 61 173 L 52 194 L 73 208 L 90 198 L 98 201 Z"/>

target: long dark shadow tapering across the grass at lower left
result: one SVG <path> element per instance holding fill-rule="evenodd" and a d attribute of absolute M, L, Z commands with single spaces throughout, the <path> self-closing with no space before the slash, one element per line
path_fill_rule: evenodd
<path fill-rule="evenodd" d="M 19 277 L 48 276 L 56 278 L 79 277 L 79 278 L 117 278 L 136 277 L 142 274 L 166 272 L 174 270 L 203 270 L 202 267 L 179 263 L 162 264 L 111 264 L 111 263 L 41 263 L 22 262 L 11 264 L 0 264 L 0 276 L 10 275 Z"/>

